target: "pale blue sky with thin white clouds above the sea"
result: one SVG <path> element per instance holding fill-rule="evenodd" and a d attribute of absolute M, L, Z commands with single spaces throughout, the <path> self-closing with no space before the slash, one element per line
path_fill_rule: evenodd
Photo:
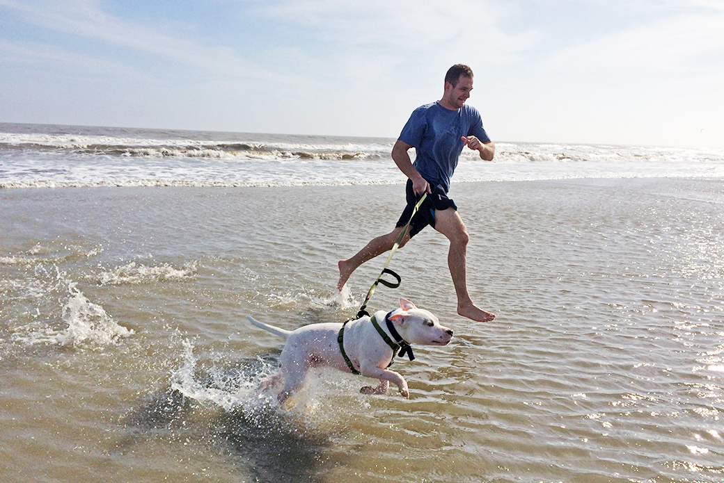
<path fill-rule="evenodd" d="M 0 122 L 724 147 L 724 0 L 0 0 Z"/>

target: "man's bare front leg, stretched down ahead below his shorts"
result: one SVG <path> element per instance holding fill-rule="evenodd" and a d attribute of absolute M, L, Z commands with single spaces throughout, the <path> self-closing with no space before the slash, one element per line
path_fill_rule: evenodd
<path fill-rule="evenodd" d="M 458 295 L 458 314 L 478 322 L 489 322 L 495 315 L 473 304 L 468 294 L 466 275 L 466 257 L 468 249 L 468 230 L 457 210 L 435 210 L 435 229 L 450 240 L 450 252 L 447 254 L 447 267 L 450 268 L 452 283 Z"/>

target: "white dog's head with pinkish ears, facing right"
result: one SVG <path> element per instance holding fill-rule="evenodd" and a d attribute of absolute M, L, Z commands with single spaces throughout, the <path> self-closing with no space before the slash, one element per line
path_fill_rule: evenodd
<path fill-rule="evenodd" d="M 400 299 L 400 308 L 390 315 L 395 329 L 410 344 L 445 346 L 452 338 L 452 330 L 440 325 L 432 312 L 418 309 L 409 300 Z"/>

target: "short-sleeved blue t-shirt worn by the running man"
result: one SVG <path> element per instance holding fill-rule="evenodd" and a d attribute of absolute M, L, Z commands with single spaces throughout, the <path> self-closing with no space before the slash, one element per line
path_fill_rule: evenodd
<path fill-rule="evenodd" d="M 400 141 L 415 148 L 417 155 L 413 166 L 422 177 L 439 184 L 447 193 L 450 178 L 463 152 L 463 140 L 460 139 L 463 136 L 475 136 L 480 142 L 490 141 L 477 109 L 464 105 L 450 111 L 435 102 L 413 111 L 400 133 Z"/>

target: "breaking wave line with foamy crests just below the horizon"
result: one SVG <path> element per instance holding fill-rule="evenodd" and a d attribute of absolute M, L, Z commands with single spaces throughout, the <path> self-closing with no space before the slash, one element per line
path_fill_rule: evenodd
<path fill-rule="evenodd" d="M 210 160 L 378 161 L 391 159 L 393 142 L 344 142 L 319 137 L 313 142 L 160 140 L 134 137 L 77 136 L 71 134 L 0 133 L 0 150 L 7 153 L 70 153 L 122 158 L 206 158 Z M 656 148 L 615 145 L 550 143 L 496 144 L 497 163 L 575 162 L 712 162 L 724 161 L 724 150 Z M 463 150 L 464 161 L 480 161 L 473 150 Z"/>

